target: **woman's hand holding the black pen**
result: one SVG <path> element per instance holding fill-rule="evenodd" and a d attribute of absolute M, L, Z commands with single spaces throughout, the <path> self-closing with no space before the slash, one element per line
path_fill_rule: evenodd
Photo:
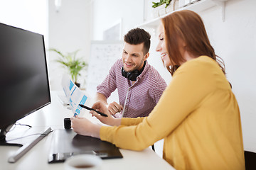
<path fill-rule="evenodd" d="M 96 103 L 94 103 L 92 105 L 92 108 L 94 108 L 97 111 L 100 111 L 102 113 L 105 113 L 107 115 L 107 117 L 102 116 L 100 114 L 98 114 L 95 111 L 90 111 L 90 113 L 95 116 L 98 120 L 100 120 L 102 123 L 106 124 L 106 125 L 121 125 L 121 119 L 120 118 L 114 118 L 112 117 L 112 114 L 110 113 L 110 111 L 108 111 L 107 107 L 105 106 L 105 104 L 102 101 L 97 101 Z"/>

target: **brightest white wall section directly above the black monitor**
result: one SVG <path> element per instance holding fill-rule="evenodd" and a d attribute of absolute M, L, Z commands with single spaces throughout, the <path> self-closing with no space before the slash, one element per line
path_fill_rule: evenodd
<path fill-rule="evenodd" d="M 42 34 L 48 47 L 48 1 L 0 0 L 0 22 Z"/>

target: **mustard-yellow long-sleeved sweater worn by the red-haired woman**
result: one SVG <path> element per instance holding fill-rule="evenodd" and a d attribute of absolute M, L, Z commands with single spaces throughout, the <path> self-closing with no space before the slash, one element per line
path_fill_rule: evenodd
<path fill-rule="evenodd" d="M 146 118 L 102 127 L 101 140 L 142 150 L 164 138 L 163 158 L 175 169 L 245 169 L 238 103 L 210 57 L 179 67 Z"/>

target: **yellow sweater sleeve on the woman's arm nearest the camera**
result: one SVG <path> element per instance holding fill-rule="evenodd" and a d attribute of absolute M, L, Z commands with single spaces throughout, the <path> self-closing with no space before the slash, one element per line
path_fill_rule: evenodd
<path fill-rule="evenodd" d="M 170 135 L 212 91 L 214 72 L 220 72 L 214 60 L 195 59 L 184 63 L 142 123 L 132 125 L 122 121 L 129 126 L 102 127 L 101 140 L 123 149 L 142 150 Z"/>

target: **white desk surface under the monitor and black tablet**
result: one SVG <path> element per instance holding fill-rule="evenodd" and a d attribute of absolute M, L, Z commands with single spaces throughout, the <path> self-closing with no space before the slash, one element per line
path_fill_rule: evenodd
<path fill-rule="evenodd" d="M 51 91 L 51 103 L 45 106 L 41 110 L 31 113 L 31 115 L 18 120 L 18 123 L 25 123 L 31 125 L 33 128 L 28 128 L 20 125 L 16 125 L 16 128 L 7 133 L 6 140 L 11 140 L 17 137 L 23 137 L 35 133 L 42 133 L 49 127 L 53 130 L 63 129 L 63 119 L 73 116 L 72 111 L 67 109 L 67 106 L 63 106 L 58 101 L 57 94 L 59 91 Z M 88 115 L 88 116 L 87 116 Z M 94 119 L 90 114 L 84 115 L 86 118 L 97 123 L 97 119 Z M 31 137 L 23 137 L 20 140 L 12 142 L 28 143 L 38 135 Z M 0 169 L 64 169 L 63 163 L 48 164 L 48 154 L 50 152 L 52 133 L 43 140 L 38 142 L 31 150 L 29 150 L 21 159 L 18 159 L 16 163 L 9 163 L 7 160 L 13 155 L 19 147 L 6 147 L 0 146 Z M 104 159 L 102 164 L 102 170 L 114 170 L 114 169 L 174 169 L 164 159 L 161 159 L 151 148 L 146 148 L 142 152 L 135 152 L 126 149 L 120 149 L 123 155 L 122 159 Z"/>

